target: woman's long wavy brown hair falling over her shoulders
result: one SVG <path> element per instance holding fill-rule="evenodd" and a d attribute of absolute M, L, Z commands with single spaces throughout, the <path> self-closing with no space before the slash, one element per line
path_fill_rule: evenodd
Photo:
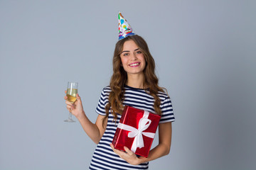
<path fill-rule="evenodd" d="M 159 87 L 158 82 L 159 79 L 155 74 L 155 62 L 154 58 L 151 56 L 149 52 L 149 47 L 146 44 L 146 41 L 140 37 L 139 35 L 129 36 L 122 40 L 119 40 L 114 49 L 114 57 L 113 57 L 113 74 L 110 80 L 110 96 L 109 103 L 105 107 L 106 116 L 103 119 L 103 122 L 106 120 L 110 111 L 114 116 L 114 120 L 117 120 L 117 114 L 122 115 L 123 111 L 123 101 L 124 101 L 124 85 L 127 83 L 127 72 L 124 71 L 122 67 L 120 54 L 123 50 L 124 42 L 127 40 L 133 40 L 136 45 L 139 47 L 139 50 L 142 51 L 145 60 L 146 67 L 144 69 L 144 90 L 146 93 L 150 94 L 154 97 L 154 111 L 161 115 L 160 109 L 160 98 L 157 96 L 159 91 L 164 92 L 166 89 Z M 111 108 L 111 110 L 110 110 Z"/>

